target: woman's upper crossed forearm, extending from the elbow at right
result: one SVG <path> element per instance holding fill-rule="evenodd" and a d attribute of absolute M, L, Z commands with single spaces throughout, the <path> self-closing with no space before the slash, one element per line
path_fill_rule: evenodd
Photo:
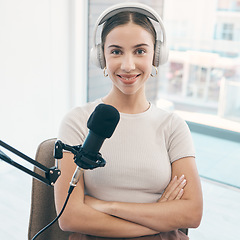
<path fill-rule="evenodd" d="M 188 200 L 149 204 L 113 202 L 105 211 L 159 232 L 195 228 L 201 219 L 201 207 L 197 209 Z"/>

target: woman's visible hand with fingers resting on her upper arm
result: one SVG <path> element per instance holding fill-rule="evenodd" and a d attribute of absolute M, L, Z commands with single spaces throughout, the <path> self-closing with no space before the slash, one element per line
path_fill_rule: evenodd
<path fill-rule="evenodd" d="M 182 175 L 179 179 L 177 179 L 177 176 L 175 176 L 168 184 L 167 188 L 165 189 L 163 195 L 158 200 L 158 202 L 181 199 L 184 193 L 183 188 L 186 186 L 186 183 L 187 182 L 184 178 L 184 175 Z"/>

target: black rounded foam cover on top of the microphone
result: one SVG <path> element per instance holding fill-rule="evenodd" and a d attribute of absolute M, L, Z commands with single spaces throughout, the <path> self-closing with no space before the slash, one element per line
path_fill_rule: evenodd
<path fill-rule="evenodd" d="M 87 127 L 103 138 L 110 138 L 119 119 L 120 115 L 115 107 L 101 103 L 90 115 Z"/>

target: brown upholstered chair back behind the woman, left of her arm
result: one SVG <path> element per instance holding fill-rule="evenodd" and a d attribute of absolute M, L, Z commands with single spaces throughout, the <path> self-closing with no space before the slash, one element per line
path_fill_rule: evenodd
<path fill-rule="evenodd" d="M 48 139 L 42 142 L 36 152 L 36 161 L 50 168 L 54 166 L 53 157 L 54 144 L 56 139 Z M 38 168 L 34 172 L 42 174 Z M 32 199 L 28 226 L 28 239 L 50 223 L 57 216 L 54 203 L 54 189 L 36 179 L 32 181 Z M 68 240 L 70 232 L 62 231 L 58 223 L 54 223 L 50 228 L 37 237 L 37 240 Z"/>

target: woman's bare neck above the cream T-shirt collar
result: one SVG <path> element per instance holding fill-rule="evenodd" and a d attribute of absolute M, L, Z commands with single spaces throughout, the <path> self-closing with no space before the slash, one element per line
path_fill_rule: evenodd
<path fill-rule="evenodd" d="M 143 95 L 116 95 L 112 91 L 102 98 L 106 104 L 114 106 L 121 113 L 137 114 L 147 111 L 149 102 Z"/>

